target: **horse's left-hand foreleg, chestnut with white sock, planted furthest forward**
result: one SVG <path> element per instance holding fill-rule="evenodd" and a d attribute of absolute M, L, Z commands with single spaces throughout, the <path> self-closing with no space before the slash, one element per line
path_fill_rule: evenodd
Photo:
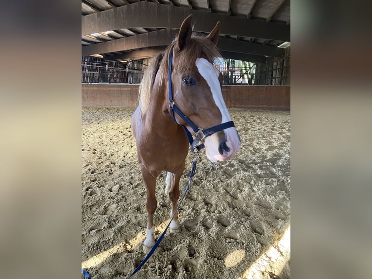
<path fill-rule="evenodd" d="M 145 183 L 145 187 L 147 190 L 147 197 L 146 197 L 146 210 L 147 210 L 147 229 L 146 229 L 146 239 L 143 242 L 143 251 L 148 253 L 152 246 L 155 244 L 153 239 L 153 233 L 155 231 L 153 225 L 153 215 L 155 213 L 157 207 L 157 201 L 155 197 L 155 184 L 156 184 L 156 176 L 151 174 L 143 165 L 141 165 L 141 173 L 143 182 Z"/>

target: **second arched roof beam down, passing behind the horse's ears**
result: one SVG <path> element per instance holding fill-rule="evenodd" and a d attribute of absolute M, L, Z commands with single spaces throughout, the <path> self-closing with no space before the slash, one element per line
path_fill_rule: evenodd
<path fill-rule="evenodd" d="M 167 46 L 177 36 L 177 30 L 162 29 L 140 35 L 129 36 L 112 41 L 82 47 L 82 55 L 103 54 L 118 52 L 136 48 L 148 48 L 153 46 Z M 219 38 L 217 48 L 220 51 L 250 53 L 283 57 L 285 50 L 273 46 L 265 46 L 235 39 Z"/>

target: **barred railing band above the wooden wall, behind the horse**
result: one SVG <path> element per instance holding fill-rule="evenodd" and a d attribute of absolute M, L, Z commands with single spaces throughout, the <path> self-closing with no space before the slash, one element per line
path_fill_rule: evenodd
<path fill-rule="evenodd" d="M 152 58 L 106 61 L 82 56 L 82 83 L 140 84 Z M 267 57 L 266 63 L 216 58 L 223 85 L 290 85 L 290 47 L 284 58 Z"/>

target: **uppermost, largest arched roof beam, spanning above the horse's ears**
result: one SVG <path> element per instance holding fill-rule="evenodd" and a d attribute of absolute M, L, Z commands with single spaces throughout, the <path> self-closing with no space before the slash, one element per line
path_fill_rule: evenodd
<path fill-rule="evenodd" d="M 290 26 L 282 23 L 231 17 L 147 1 L 82 17 L 82 35 L 136 27 L 179 29 L 183 19 L 190 14 L 194 16 L 194 30 L 197 32 L 210 32 L 220 20 L 221 34 L 290 41 Z"/>

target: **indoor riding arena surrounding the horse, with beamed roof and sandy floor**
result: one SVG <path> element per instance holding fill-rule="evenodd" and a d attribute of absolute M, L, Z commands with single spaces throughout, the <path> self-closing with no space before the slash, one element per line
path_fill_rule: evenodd
<path fill-rule="evenodd" d="M 181 231 L 168 229 L 131 278 L 290 278 L 289 0 L 82 0 L 82 278 L 127 278 L 147 255 L 132 116 L 144 72 L 188 15 L 203 37 L 220 21 L 213 64 L 241 147 L 218 162 L 200 151 Z M 171 217 L 166 177 L 156 178 L 155 241 Z"/>

